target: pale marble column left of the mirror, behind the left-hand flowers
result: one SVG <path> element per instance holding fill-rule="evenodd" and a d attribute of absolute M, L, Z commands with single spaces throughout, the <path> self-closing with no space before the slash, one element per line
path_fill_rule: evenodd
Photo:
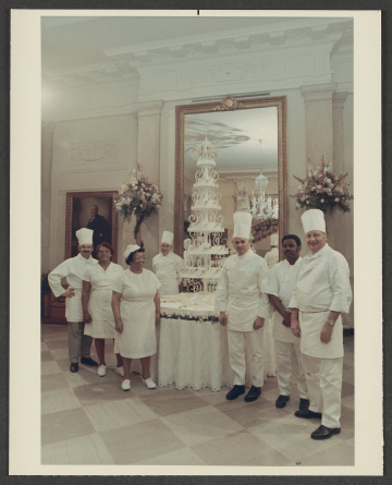
<path fill-rule="evenodd" d="M 143 167 L 143 173 L 158 186 L 160 181 L 160 123 L 163 105 L 162 100 L 135 104 L 137 111 L 137 162 Z M 152 257 L 159 252 L 159 215 L 150 216 L 142 225 L 142 240 L 146 246 L 145 267 L 151 269 Z"/>

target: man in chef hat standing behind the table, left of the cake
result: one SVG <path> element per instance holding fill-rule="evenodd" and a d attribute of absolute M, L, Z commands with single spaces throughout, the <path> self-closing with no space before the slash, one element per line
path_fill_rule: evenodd
<path fill-rule="evenodd" d="M 161 282 L 160 294 L 177 294 L 182 291 L 181 271 L 183 259 L 171 252 L 174 234 L 163 231 L 160 254 L 152 258 L 152 271 Z"/>

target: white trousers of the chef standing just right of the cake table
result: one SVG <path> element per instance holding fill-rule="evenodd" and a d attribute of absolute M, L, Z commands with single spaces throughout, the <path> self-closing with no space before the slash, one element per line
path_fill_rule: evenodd
<path fill-rule="evenodd" d="M 252 331 L 228 330 L 229 360 L 234 371 L 234 386 L 245 386 L 245 347 L 249 352 L 252 384 L 264 384 L 264 328 Z"/>

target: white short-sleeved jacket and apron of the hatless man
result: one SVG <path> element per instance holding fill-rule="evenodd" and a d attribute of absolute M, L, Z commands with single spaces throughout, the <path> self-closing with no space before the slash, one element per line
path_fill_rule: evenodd
<path fill-rule="evenodd" d="M 294 265 L 291 265 L 287 259 L 283 259 L 274 265 L 269 272 L 266 293 L 278 296 L 287 312 L 291 312 L 291 308 L 289 307 L 290 299 L 293 287 L 296 283 L 301 259 L 302 257 L 298 257 Z M 291 331 L 291 328 L 285 327 L 282 322 L 282 315 L 278 311 L 274 311 L 273 338 L 280 342 L 299 343 L 299 339 L 295 337 Z"/>

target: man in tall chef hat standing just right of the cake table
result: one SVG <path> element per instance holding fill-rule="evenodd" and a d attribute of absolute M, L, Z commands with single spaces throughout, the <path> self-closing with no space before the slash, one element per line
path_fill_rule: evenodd
<path fill-rule="evenodd" d="M 249 248 L 252 216 L 234 214 L 233 246 L 222 268 L 216 293 L 219 323 L 228 327 L 230 365 L 234 371 L 234 386 L 228 400 L 245 393 L 245 345 L 250 353 L 252 388 L 245 401 L 258 399 L 264 384 L 264 322 L 272 316 L 272 306 L 264 293 L 268 266 L 262 257 Z"/>

